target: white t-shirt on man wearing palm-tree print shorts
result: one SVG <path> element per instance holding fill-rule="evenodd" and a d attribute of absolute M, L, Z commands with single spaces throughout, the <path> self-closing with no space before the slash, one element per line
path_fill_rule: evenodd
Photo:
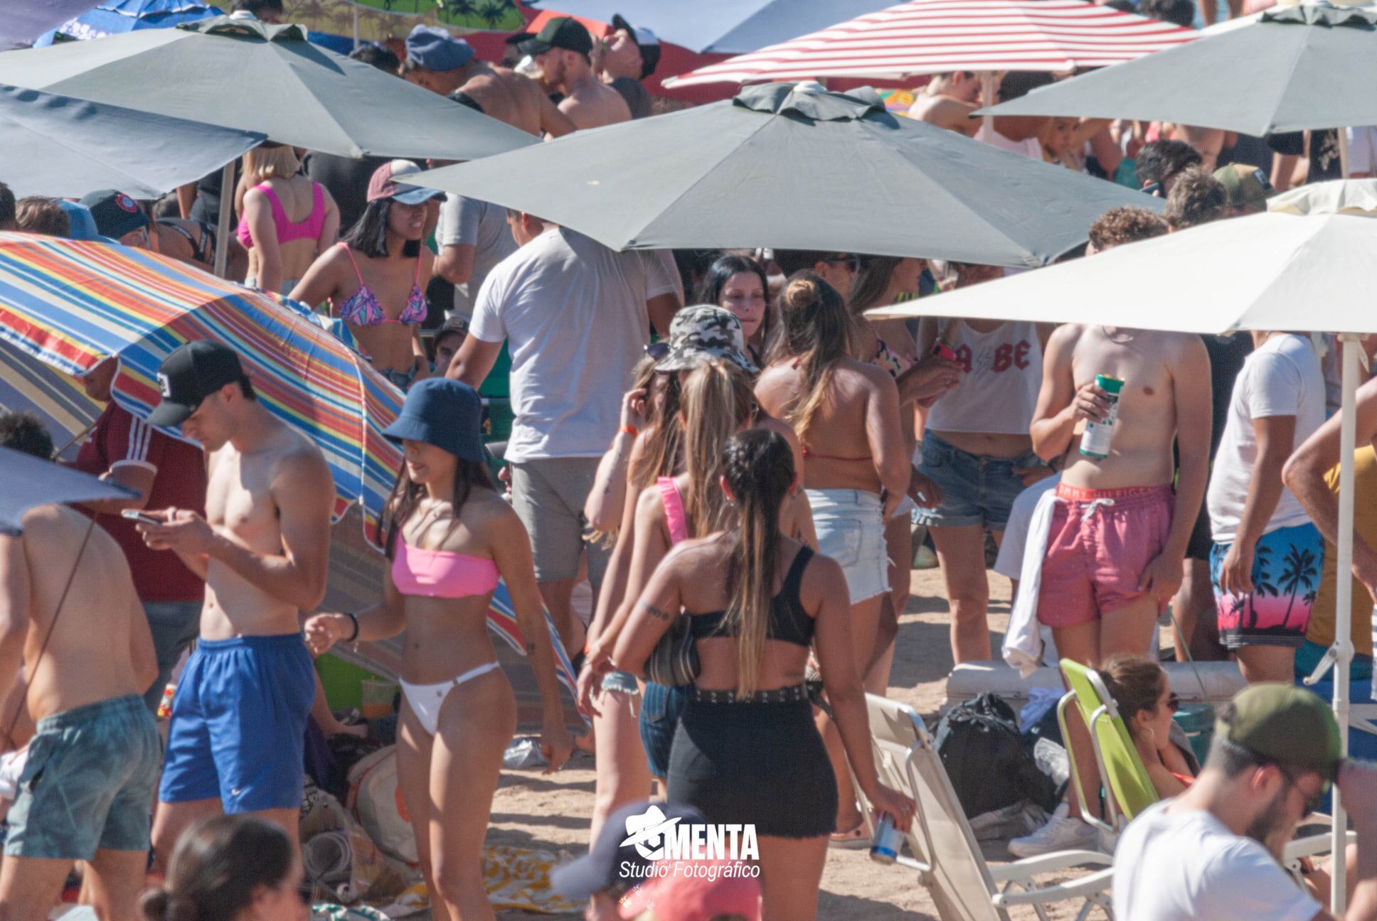
<path fill-rule="evenodd" d="M 1296 333 L 1276 333 L 1253 351 L 1234 381 L 1228 420 L 1215 454 L 1209 491 L 1210 534 L 1217 544 L 1232 541 L 1248 500 L 1248 480 L 1257 463 L 1254 419 L 1294 416 L 1296 445 L 1314 434 L 1325 421 L 1325 374 L 1310 339 Z M 1289 489 L 1282 487 L 1264 534 L 1281 527 L 1294 527 L 1310 520 L 1305 509 Z"/>

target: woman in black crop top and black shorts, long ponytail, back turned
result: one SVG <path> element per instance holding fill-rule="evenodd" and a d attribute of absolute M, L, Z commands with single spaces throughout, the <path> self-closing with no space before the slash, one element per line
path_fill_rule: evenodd
<path fill-rule="evenodd" d="M 733 514 L 722 530 L 665 556 L 613 659 L 642 670 L 671 622 L 690 617 L 701 668 L 673 738 L 669 800 L 711 823 L 755 825 L 764 917 L 807 921 L 837 812 L 803 684 L 810 648 L 866 797 L 899 829 L 914 805 L 876 776 L 841 567 L 779 530 L 781 507 L 797 489 L 789 443 L 771 431 L 734 435 L 722 471 Z"/>

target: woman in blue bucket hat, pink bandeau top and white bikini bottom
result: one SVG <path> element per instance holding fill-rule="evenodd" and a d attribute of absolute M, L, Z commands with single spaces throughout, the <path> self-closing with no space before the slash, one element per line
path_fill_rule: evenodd
<path fill-rule="evenodd" d="M 544 702 L 541 752 L 556 771 L 573 743 L 565 730 L 555 654 L 536 586 L 530 538 L 493 489 L 483 458 L 478 394 L 443 377 L 406 395 L 386 435 L 406 464 L 384 511 L 391 566 L 383 603 L 359 614 L 306 622 L 313 651 L 406 631 L 398 789 L 437 918 L 493 918 L 482 848 L 503 752 L 516 728 L 516 699 L 487 636 L 498 577 Z"/>

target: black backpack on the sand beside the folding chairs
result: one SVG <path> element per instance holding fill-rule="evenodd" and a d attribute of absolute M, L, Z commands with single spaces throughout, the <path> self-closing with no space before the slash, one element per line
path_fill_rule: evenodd
<path fill-rule="evenodd" d="M 1013 709 L 994 694 L 980 694 L 947 710 L 934 745 L 967 818 L 1024 800 L 1052 808 L 1052 779 L 1037 770 L 1023 748 Z"/>

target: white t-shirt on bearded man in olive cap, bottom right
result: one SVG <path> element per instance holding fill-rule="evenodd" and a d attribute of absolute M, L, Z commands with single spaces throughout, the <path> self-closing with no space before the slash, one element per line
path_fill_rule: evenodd
<path fill-rule="evenodd" d="M 1311 921 L 1321 906 L 1261 844 L 1202 809 L 1155 803 L 1114 851 L 1114 917 L 1128 921 Z"/>

